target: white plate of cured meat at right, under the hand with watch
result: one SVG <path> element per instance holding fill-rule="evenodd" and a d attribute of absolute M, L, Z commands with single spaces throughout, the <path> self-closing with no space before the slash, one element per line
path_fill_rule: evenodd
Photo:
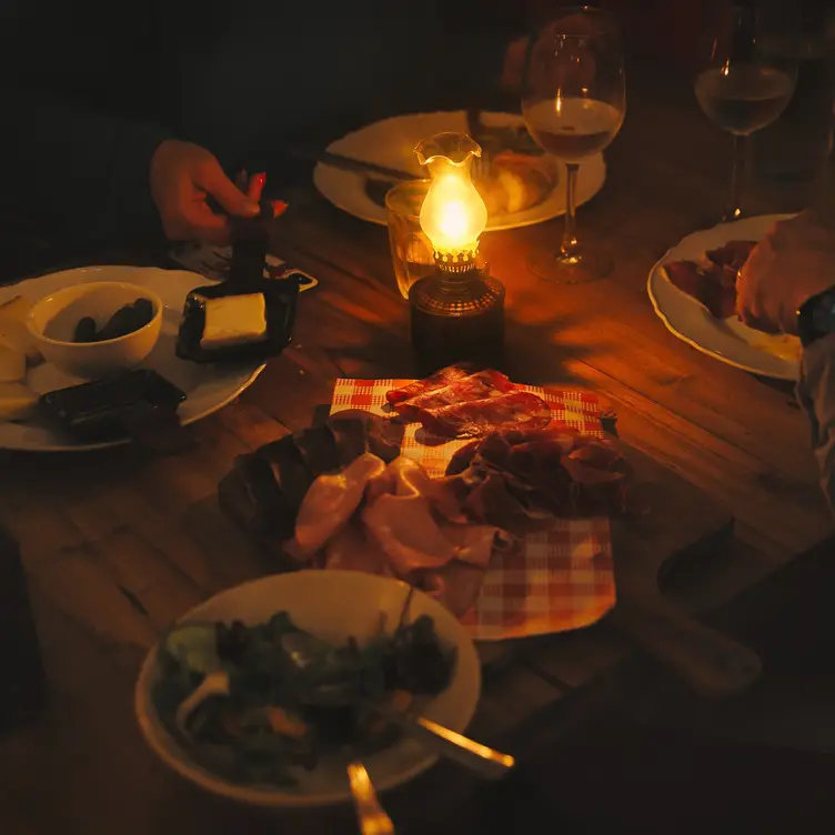
<path fill-rule="evenodd" d="M 747 328 L 736 316 L 725 321 L 715 319 L 704 305 L 678 290 L 661 269 L 668 261 L 697 261 L 706 250 L 721 247 L 727 241 L 758 241 L 772 224 L 791 217 L 764 214 L 733 223 L 721 223 L 713 229 L 694 232 L 667 250 L 653 266 L 647 282 L 655 312 L 667 329 L 693 348 L 728 365 L 762 376 L 797 380 L 799 340 L 764 334 Z M 778 355 L 781 353 L 784 355 Z"/>

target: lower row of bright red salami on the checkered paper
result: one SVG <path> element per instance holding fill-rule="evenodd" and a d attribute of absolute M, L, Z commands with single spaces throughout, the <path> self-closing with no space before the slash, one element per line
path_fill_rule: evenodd
<path fill-rule="evenodd" d="M 426 432 L 440 437 L 480 436 L 504 429 L 543 429 L 551 422 L 551 408 L 535 394 L 512 391 L 434 411 L 420 410 L 418 420 Z"/>

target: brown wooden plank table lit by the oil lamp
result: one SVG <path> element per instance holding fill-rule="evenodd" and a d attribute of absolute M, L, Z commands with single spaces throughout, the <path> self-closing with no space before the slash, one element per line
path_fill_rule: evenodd
<path fill-rule="evenodd" d="M 807 426 L 791 389 L 757 380 L 674 339 L 647 301 L 655 259 L 716 217 L 730 139 L 698 112 L 684 80 L 642 72 L 602 194 L 580 230 L 616 253 L 611 278 L 540 282 L 529 256 L 556 244 L 560 221 L 486 235 L 507 288 L 512 379 L 594 389 L 620 435 L 726 504 L 735 537 L 675 587 L 691 610 L 715 606 L 831 535 Z M 6 832 L 274 832 L 272 815 L 234 807 L 169 774 L 132 717 L 138 665 L 161 630 L 208 595 L 270 572 L 220 513 L 215 489 L 233 457 L 308 425 L 335 376 L 409 376 L 408 309 L 386 232 L 349 218 L 312 188 L 286 195 L 275 251 L 318 275 L 291 348 L 237 403 L 193 427 L 193 449 L 149 456 L 10 454 L 0 466 L 0 521 L 22 544 L 53 706 L 0 744 Z M 758 211 L 784 208 L 755 195 Z M 490 676 L 472 732 L 517 754 L 540 750 L 586 710 L 588 685 L 626 654 L 605 625 L 523 645 Z M 440 766 L 386 801 L 420 831 L 462 807 L 472 784 Z M 282 818 L 293 832 L 301 817 Z M 350 815 L 306 816 L 350 832 Z M 306 831 L 306 828 L 305 828 Z"/>

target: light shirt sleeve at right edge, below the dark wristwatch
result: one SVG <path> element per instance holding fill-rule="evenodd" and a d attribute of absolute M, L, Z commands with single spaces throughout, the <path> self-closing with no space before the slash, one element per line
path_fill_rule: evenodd
<path fill-rule="evenodd" d="M 805 350 L 797 399 L 809 420 L 821 485 L 835 513 L 835 334 Z"/>

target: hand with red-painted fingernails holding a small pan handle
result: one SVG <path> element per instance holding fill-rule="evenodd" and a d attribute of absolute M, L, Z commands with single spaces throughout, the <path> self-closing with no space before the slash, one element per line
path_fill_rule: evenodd
<path fill-rule="evenodd" d="M 254 218 L 263 188 L 263 175 L 247 184 L 247 193 L 225 175 L 215 157 L 200 145 L 169 139 L 151 158 L 151 197 L 172 241 L 230 242 L 230 215 Z M 219 214 L 208 199 L 224 210 Z"/>

